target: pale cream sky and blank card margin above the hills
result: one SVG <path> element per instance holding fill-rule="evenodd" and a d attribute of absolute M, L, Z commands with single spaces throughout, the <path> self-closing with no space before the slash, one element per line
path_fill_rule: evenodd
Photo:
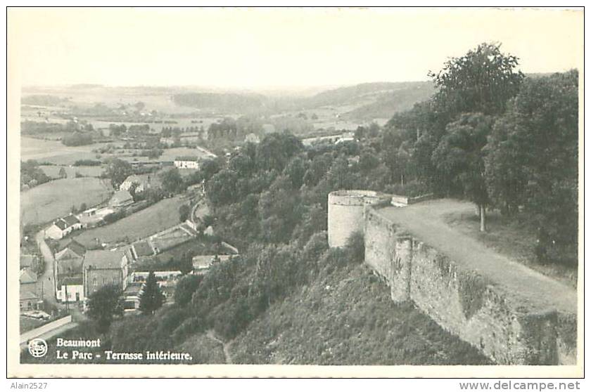
<path fill-rule="evenodd" d="M 272 89 L 426 80 L 484 41 L 523 72 L 583 62 L 583 12 L 406 8 L 10 8 L 21 86 Z"/>

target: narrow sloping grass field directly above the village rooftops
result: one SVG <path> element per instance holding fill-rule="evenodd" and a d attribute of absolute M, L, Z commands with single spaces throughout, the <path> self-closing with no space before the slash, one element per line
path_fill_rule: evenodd
<path fill-rule="evenodd" d="M 83 245 L 96 243 L 95 238 L 100 242 L 134 242 L 179 224 L 179 206 L 182 203 L 178 196 L 161 200 L 115 223 L 86 230 L 76 240 Z"/>

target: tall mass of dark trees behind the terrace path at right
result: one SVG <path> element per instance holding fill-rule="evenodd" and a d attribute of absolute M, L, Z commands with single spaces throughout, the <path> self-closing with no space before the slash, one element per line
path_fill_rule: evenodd
<path fill-rule="evenodd" d="M 550 247 L 576 246 L 578 72 L 525 77 L 517 66 L 499 45 L 481 44 L 431 72 L 433 99 L 386 128 L 409 158 L 399 170 L 473 201 L 481 230 L 487 208 L 525 213 L 545 259 Z"/>

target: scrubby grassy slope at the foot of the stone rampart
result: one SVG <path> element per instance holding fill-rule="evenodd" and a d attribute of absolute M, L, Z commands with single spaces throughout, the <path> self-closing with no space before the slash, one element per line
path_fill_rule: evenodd
<path fill-rule="evenodd" d="M 234 363 L 481 364 L 486 358 L 409 304 L 366 266 L 348 266 L 276 303 L 231 344 Z"/>

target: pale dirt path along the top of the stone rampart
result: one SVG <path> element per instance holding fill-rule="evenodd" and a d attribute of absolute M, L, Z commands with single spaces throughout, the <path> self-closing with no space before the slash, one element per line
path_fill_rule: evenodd
<path fill-rule="evenodd" d="M 502 287 L 523 306 L 540 311 L 557 309 L 576 313 L 575 289 L 513 261 L 484 244 L 447 226 L 443 216 L 471 211 L 474 204 L 442 199 L 409 207 L 386 207 L 380 214 L 409 230 L 417 239 L 442 251 L 460 268 L 475 270 L 493 285 Z"/>

